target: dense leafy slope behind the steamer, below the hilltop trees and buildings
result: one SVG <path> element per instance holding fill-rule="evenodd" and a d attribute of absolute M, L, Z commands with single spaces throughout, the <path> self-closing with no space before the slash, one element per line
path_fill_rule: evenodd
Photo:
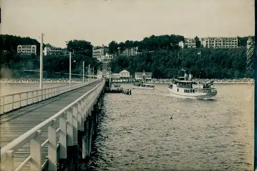
<path fill-rule="evenodd" d="M 199 50 L 200 58 L 197 54 Z M 254 70 L 246 69 L 246 48 L 199 50 L 180 49 L 179 58 L 178 52 L 172 50 L 142 52 L 136 56 L 117 56 L 112 59 L 110 66 L 115 73 L 122 70 L 132 74 L 143 69 L 152 71 L 154 78 L 173 78 L 182 68 L 188 68 L 194 76 L 200 74 L 201 78 L 253 78 Z"/>

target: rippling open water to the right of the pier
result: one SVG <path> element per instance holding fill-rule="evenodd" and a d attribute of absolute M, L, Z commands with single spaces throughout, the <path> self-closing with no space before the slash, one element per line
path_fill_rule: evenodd
<path fill-rule="evenodd" d="M 249 86 L 216 87 L 214 100 L 173 98 L 164 85 L 106 94 L 93 152 L 81 169 L 252 170 Z"/>

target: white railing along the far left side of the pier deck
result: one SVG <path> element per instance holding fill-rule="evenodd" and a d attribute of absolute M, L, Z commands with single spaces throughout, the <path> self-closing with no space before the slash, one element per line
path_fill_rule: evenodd
<path fill-rule="evenodd" d="M 9 112 L 14 109 L 19 109 L 23 106 L 32 103 L 36 103 L 54 96 L 58 96 L 71 90 L 81 88 L 95 81 L 96 80 L 90 80 L 82 83 L 66 84 L 63 86 L 56 86 L 45 89 L 36 89 L 31 91 L 2 95 L 0 96 L 0 115 L 5 112 Z"/>

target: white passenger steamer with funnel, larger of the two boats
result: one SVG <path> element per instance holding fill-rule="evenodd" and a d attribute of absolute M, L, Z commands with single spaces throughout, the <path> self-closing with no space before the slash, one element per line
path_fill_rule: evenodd
<path fill-rule="evenodd" d="M 179 98 L 210 99 L 217 94 L 213 81 L 200 83 L 192 80 L 193 75 L 185 71 L 183 77 L 173 80 L 168 86 L 170 94 Z"/>

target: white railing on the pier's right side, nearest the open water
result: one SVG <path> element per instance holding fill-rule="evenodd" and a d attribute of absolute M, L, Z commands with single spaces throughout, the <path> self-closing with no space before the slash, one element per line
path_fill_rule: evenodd
<path fill-rule="evenodd" d="M 77 133 L 84 130 L 84 121 L 90 116 L 91 108 L 97 102 L 104 84 L 105 80 L 57 114 L 1 148 L 1 170 L 19 171 L 27 164 L 30 164 L 30 170 L 43 170 L 46 166 L 47 170 L 57 170 L 58 159 L 66 159 L 67 146 L 78 143 Z M 41 133 L 45 129 L 48 130 L 48 139 L 42 143 Z M 60 136 L 58 142 L 57 134 Z M 27 143 L 30 143 L 30 156 L 14 168 L 14 153 Z M 45 146 L 48 147 L 48 156 L 42 162 L 42 148 Z"/>

